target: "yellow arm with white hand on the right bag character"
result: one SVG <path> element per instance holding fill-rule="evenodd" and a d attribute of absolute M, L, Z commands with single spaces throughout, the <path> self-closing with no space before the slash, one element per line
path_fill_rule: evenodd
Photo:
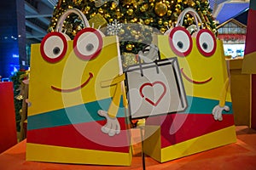
<path fill-rule="evenodd" d="M 222 111 L 230 111 L 230 107 L 225 105 L 226 95 L 227 95 L 229 86 L 230 86 L 230 79 L 227 78 L 226 81 L 224 82 L 224 87 L 221 90 L 219 103 L 212 110 L 212 115 L 216 121 L 223 120 Z"/>

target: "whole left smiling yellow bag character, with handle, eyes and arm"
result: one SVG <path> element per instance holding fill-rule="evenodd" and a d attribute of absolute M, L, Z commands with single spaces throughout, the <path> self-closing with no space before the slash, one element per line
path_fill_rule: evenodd
<path fill-rule="evenodd" d="M 61 32 L 68 14 L 85 28 Z M 32 45 L 26 160 L 130 165 L 118 38 L 105 37 L 73 8 Z M 122 97 L 123 96 L 123 97 Z"/>

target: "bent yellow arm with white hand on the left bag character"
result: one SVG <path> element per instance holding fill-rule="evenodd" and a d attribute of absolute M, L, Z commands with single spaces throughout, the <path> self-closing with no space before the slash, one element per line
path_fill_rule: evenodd
<path fill-rule="evenodd" d="M 122 74 L 118 77 L 115 77 L 111 81 L 102 82 L 102 88 L 115 86 L 113 99 L 111 101 L 111 104 L 109 105 L 108 111 L 102 111 L 102 110 L 98 111 L 98 114 L 100 116 L 104 116 L 107 119 L 107 123 L 102 127 L 102 132 L 108 133 L 109 136 L 113 136 L 115 134 L 120 133 L 120 125 L 116 116 L 119 111 L 119 104 L 120 104 L 120 99 L 122 94 L 123 94 L 124 106 L 125 108 L 127 108 L 127 100 L 125 98 L 125 86 L 123 82 L 124 80 L 125 80 L 125 74 Z"/>

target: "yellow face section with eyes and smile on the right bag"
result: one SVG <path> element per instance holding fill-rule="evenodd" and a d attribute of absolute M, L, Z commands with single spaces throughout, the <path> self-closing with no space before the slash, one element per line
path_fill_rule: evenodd
<path fill-rule="evenodd" d="M 191 37 L 189 31 L 177 26 L 168 36 L 159 36 L 159 46 L 166 58 L 177 56 L 187 95 L 219 99 L 227 74 L 222 65 L 222 42 L 212 31 L 201 29 Z"/>

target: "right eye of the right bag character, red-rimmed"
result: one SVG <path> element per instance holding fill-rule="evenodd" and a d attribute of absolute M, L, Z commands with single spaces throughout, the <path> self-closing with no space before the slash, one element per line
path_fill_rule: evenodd
<path fill-rule="evenodd" d="M 212 33 L 207 29 L 202 29 L 197 33 L 196 45 L 201 54 L 209 57 L 215 53 L 216 39 Z"/>

